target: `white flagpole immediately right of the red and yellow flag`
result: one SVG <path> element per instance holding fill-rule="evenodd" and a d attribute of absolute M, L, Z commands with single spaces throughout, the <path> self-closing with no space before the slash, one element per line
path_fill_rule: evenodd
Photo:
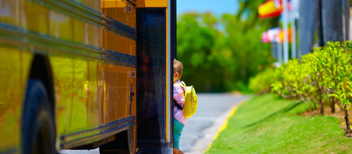
<path fill-rule="evenodd" d="M 283 4 L 283 31 L 284 31 L 284 63 L 288 62 L 289 55 L 288 55 L 288 12 L 287 12 L 287 0 L 282 0 Z"/>

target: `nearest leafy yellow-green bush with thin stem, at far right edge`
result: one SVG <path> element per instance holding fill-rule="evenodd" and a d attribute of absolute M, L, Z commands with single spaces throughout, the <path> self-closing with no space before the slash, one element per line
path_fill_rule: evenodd
<path fill-rule="evenodd" d="M 346 133 L 350 134 L 350 126 L 347 110 L 352 110 L 352 44 L 349 41 L 327 42 L 324 48 L 315 51 L 319 63 L 324 92 L 334 99 L 345 111 Z"/>

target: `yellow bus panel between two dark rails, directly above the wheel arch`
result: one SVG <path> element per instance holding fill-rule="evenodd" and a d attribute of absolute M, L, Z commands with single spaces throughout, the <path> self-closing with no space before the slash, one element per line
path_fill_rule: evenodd
<path fill-rule="evenodd" d="M 31 1 L 24 1 L 24 15 L 22 16 L 24 28 L 34 32 L 48 34 L 48 8 Z M 35 22 L 33 22 L 33 19 Z"/>

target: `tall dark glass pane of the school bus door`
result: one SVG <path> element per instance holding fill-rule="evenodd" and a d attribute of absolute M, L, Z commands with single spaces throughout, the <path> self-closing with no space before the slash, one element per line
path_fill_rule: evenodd
<path fill-rule="evenodd" d="M 137 8 L 137 142 L 166 140 L 165 8 Z"/>

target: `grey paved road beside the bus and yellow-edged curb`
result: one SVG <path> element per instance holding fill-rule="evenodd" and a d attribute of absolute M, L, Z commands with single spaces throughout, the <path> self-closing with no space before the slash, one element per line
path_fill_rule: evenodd
<path fill-rule="evenodd" d="M 184 127 L 180 149 L 187 154 L 204 153 L 228 112 L 245 96 L 232 94 L 198 94 L 198 110 Z M 61 154 L 99 154 L 93 150 L 61 150 Z"/>

